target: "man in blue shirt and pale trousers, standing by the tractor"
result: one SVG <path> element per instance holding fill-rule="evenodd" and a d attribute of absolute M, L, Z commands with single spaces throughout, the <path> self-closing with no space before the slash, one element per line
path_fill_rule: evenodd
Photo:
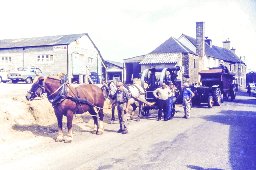
<path fill-rule="evenodd" d="M 183 106 L 185 115 L 182 118 L 189 119 L 190 118 L 190 109 L 191 109 L 191 98 L 195 96 L 195 94 L 188 88 L 188 84 L 184 83 L 183 85 Z"/>

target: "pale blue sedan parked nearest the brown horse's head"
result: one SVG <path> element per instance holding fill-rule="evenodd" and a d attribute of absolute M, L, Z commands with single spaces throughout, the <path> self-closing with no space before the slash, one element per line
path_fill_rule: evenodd
<path fill-rule="evenodd" d="M 16 84 L 19 81 L 25 81 L 27 84 L 32 83 L 35 77 L 38 75 L 48 75 L 42 73 L 42 71 L 37 67 L 18 67 L 13 72 L 7 74 L 7 78 L 12 80 L 12 83 Z"/>

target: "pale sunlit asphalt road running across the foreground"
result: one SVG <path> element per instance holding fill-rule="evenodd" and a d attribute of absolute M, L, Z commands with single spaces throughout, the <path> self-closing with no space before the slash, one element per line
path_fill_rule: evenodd
<path fill-rule="evenodd" d="M 239 92 L 232 102 L 224 100 L 211 109 L 194 107 L 190 119 L 181 118 L 181 105 L 176 110 L 168 122 L 157 122 L 153 110 L 140 122 L 129 121 L 127 135 L 116 133 L 117 122 L 105 124 L 103 135 L 93 135 L 89 121 L 73 125 L 74 140 L 69 144 L 56 143 L 46 134 L 2 145 L 0 169 L 256 169 L 254 97 Z"/>

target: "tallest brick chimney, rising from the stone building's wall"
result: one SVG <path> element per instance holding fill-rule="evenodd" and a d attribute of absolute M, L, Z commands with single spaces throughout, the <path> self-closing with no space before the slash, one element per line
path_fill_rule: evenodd
<path fill-rule="evenodd" d="M 205 36 L 204 36 L 204 22 L 196 22 L 196 50 L 200 57 L 205 56 Z"/>

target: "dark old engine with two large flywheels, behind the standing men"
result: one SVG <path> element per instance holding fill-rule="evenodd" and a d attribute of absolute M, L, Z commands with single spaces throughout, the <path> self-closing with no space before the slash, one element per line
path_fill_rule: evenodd
<path fill-rule="evenodd" d="M 142 115 L 148 115 L 149 110 L 158 109 L 157 102 L 158 99 L 153 95 L 155 89 L 161 87 L 162 83 L 168 85 L 168 83 L 173 83 L 176 92 L 174 94 L 173 110 L 171 116 L 175 114 L 175 104 L 182 104 L 182 85 L 181 80 L 177 79 L 177 71 L 180 70 L 179 66 L 169 67 L 169 68 L 151 68 L 146 69 L 142 73 L 141 86 L 145 90 L 145 99 L 147 102 L 154 103 L 152 105 L 144 105 L 142 109 Z M 160 75 L 160 78 L 157 76 Z"/>

